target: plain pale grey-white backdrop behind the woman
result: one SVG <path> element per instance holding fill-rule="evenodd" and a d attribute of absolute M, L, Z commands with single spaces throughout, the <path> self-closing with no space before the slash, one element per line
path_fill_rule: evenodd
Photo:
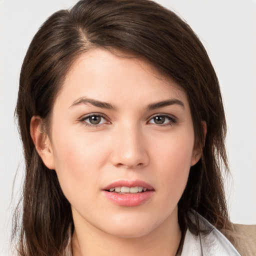
<path fill-rule="evenodd" d="M 76 0 L 0 0 L 0 255 L 9 247 L 11 217 L 24 164 L 13 116 L 22 59 L 40 24 Z M 233 222 L 256 223 L 256 1 L 157 0 L 192 27 L 221 86 L 231 178 L 225 178 Z M 17 171 L 17 172 L 16 172 Z M 12 189 L 13 179 L 16 182 Z"/>

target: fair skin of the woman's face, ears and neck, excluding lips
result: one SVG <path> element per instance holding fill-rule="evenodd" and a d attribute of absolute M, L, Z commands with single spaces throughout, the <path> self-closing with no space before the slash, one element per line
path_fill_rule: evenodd
<path fill-rule="evenodd" d="M 82 97 L 114 109 L 79 102 Z M 169 99 L 182 104 L 147 108 Z M 104 118 L 88 126 L 93 113 Z M 164 123 L 156 123 L 153 117 L 161 115 Z M 93 49 L 68 71 L 50 134 L 41 125 L 33 116 L 31 136 L 71 204 L 74 256 L 175 255 L 181 237 L 177 202 L 200 158 L 187 97 L 177 84 L 142 59 Z M 135 207 L 114 204 L 102 188 L 120 179 L 145 181 L 153 195 Z"/>

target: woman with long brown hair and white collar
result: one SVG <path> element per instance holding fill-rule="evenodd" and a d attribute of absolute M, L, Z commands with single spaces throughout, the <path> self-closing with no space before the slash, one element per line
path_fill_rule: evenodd
<path fill-rule="evenodd" d="M 217 77 L 171 11 L 85 0 L 54 13 L 25 56 L 16 113 L 19 255 L 239 255 L 218 231 L 233 241 Z"/>

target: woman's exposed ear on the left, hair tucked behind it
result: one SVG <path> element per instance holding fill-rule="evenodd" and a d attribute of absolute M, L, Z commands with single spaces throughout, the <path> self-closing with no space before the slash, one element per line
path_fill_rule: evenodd
<path fill-rule="evenodd" d="M 32 116 L 30 121 L 30 135 L 35 148 L 46 167 L 49 169 L 55 169 L 54 155 L 50 139 L 43 129 L 43 121 L 40 116 Z"/>

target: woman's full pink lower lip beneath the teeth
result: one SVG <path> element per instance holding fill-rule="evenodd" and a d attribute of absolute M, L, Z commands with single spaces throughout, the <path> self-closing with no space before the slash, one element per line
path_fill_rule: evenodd
<path fill-rule="evenodd" d="M 148 190 L 145 192 L 141 193 L 113 193 L 109 191 L 103 191 L 104 195 L 112 202 L 115 204 L 121 205 L 121 206 L 138 206 L 146 201 L 148 201 L 154 191 L 153 190 Z"/>

